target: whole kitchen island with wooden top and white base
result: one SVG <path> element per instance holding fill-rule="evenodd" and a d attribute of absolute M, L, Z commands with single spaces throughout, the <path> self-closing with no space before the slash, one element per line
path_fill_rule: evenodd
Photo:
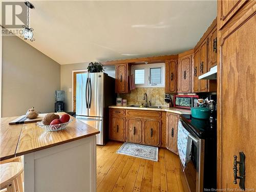
<path fill-rule="evenodd" d="M 9 125 L 15 118 L 1 118 L 0 158 L 24 155 L 25 191 L 96 191 L 98 130 L 74 117 L 57 132 L 34 122 Z"/>

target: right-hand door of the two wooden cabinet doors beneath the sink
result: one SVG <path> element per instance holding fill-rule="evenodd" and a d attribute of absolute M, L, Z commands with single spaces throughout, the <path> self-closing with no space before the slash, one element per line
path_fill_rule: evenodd
<path fill-rule="evenodd" d="M 148 145 L 160 146 L 160 129 L 161 120 L 145 119 L 144 120 L 144 143 Z"/>

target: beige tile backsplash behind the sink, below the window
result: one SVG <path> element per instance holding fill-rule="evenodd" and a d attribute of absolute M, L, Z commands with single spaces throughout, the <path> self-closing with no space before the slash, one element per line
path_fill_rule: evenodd
<path fill-rule="evenodd" d="M 141 104 L 145 102 L 143 95 L 146 93 L 147 102 L 150 101 L 152 105 L 165 105 L 164 92 L 164 88 L 136 88 L 132 90 L 131 93 L 119 94 L 119 96 L 123 99 L 127 99 L 127 104 Z"/>

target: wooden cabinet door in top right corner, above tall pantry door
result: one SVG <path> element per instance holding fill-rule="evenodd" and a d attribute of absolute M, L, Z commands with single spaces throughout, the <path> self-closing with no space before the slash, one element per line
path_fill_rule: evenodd
<path fill-rule="evenodd" d="M 245 0 L 219 0 L 218 28 L 221 29 L 245 3 Z"/>

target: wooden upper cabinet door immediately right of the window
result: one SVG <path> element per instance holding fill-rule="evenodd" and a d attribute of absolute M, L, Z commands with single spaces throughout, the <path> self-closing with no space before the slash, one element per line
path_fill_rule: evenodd
<path fill-rule="evenodd" d="M 165 93 L 176 93 L 177 60 L 165 61 Z"/>

